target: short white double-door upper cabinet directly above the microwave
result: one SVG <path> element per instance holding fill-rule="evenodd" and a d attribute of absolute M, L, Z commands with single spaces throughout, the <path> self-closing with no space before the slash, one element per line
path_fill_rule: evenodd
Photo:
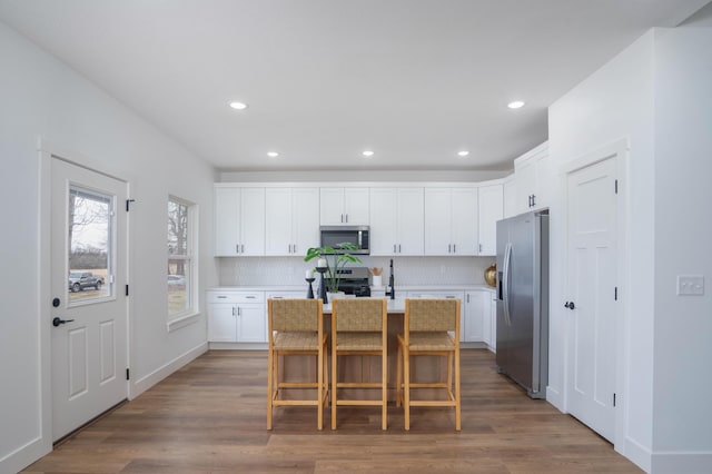
<path fill-rule="evenodd" d="M 320 188 L 323 226 L 367 226 L 368 188 Z"/>

